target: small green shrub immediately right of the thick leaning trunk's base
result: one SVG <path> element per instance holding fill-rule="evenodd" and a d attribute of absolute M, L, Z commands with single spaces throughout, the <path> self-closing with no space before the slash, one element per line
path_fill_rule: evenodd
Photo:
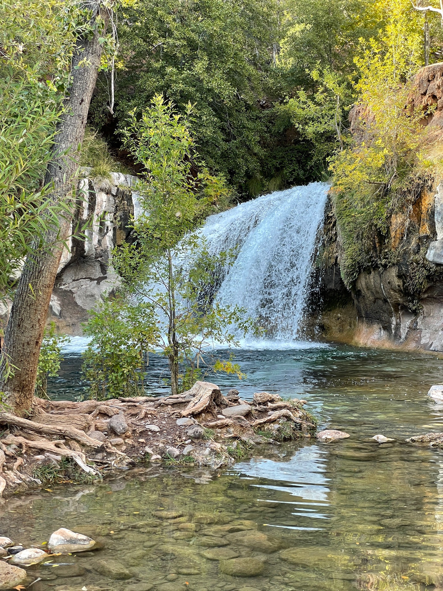
<path fill-rule="evenodd" d="M 35 395 L 39 398 L 50 400 L 47 392 L 48 378 L 55 378 L 58 375 L 60 363 L 63 361 L 61 349 L 69 341 L 69 336 L 57 334 L 55 322 L 51 322 L 50 326 L 45 328 L 38 358 L 37 382 L 35 383 Z"/>

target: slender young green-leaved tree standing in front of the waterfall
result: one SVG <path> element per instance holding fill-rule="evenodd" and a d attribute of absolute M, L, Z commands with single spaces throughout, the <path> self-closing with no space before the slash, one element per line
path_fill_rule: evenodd
<path fill-rule="evenodd" d="M 126 306 L 120 317 L 134 314 L 151 326 L 149 344 L 168 359 L 172 394 L 197 379 L 207 348 L 235 345 L 234 327 L 242 334 L 255 329 L 245 310 L 214 301 L 217 266 L 229 264 L 230 255 L 210 256 L 195 230 L 227 189 L 199 160 L 190 117 L 190 108 L 180 115 L 157 95 L 140 121 L 129 119 L 126 145 L 146 169 L 137 186 L 146 213 L 134 222 L 136 241 L 113 255 Z M 94 319 L 103 322 L 105 311 Z M 87 331 L 96 335 L 94 322 Z M 216 370 L 242 375 L 231 360 Z"/>

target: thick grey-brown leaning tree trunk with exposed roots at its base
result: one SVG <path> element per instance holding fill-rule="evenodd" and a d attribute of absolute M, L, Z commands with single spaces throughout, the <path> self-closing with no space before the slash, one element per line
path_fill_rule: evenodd
<path fill-rule="evenodd" d="M 83 142 L 87 113 L 97 80 L 101 54 L 99 37 L 105 33 L 103 21 L 106 28 L 109 20 L 109 11 L 102 7 L 100 1 L 85 4 L 92 10 L 89 24 L 93 35 L 79 38 L 74 51 L 70 93 L 65 100 L 66 111 L 57 125 L 54 157 L 44 179 L 45 185 L 52 184 L 51 201 L 54 205 L 61 202 L 69 204 L 70 213 L 60 215 L 58 228 L 48 230 L 44 249 L 27 257 L 6 326 L 0 365 L 0 391 L 5 392 L 7 402 L 16 414 L 22 414 L 32 406 L 38 356 L 51 293 L 63 242 L 71 232 L 80 159 L 78 148 Z M 98 16 L 102 17 L 101 22 L 97 22 Z M 8 372 L 8 363 L 14 370 L 12 375 Z"/>

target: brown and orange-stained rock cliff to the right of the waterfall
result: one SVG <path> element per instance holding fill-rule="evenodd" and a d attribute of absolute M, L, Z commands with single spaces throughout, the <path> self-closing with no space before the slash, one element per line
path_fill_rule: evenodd
<path fill-rule="evenodd" d="M 413 108 L 434 106 L 421 123 L 429 126 L 429 141 L 441 141 L 442 63 L 416 74 L 410 98 Z M 412 205 L 391 217 L 384 241 L 384 264 L 364 269 L 347 290 L 340 279 L 334 209 L 328 204 L 320 332 L 356 345 L 443 350 L 443 182 L 425 183 Z"/>

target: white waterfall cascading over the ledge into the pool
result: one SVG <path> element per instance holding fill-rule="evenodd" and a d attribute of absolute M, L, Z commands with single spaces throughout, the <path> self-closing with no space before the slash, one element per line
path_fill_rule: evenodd
<path fill-rule="evenodd" d="M 328 189 L 275 191 L 210 216 L 201 230 L 213 254 L 239 248 L 217 300 L 245 307 L 267 339 L 297 340 Z"/>

